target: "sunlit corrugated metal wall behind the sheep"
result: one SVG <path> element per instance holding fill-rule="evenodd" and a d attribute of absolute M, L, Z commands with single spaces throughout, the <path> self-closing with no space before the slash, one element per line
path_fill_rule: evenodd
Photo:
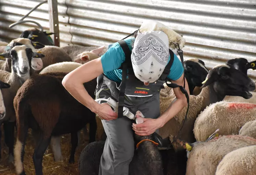
<path fill-rule="evenodd" d="M 0 0 L 0 37 L 10 41 L 32 24 L 9 29 L 40 0 Z M 155 19 L 183 35 L 184 58 L 199 58 L 208 68 L 243 57 L 256 59 L 256 0 L 58 0 L 61 46 L 108 45 Z M 48 5 L 26 19 L 46 30 Z M 249 71 L 256 78 L 256 72 Z"/>

